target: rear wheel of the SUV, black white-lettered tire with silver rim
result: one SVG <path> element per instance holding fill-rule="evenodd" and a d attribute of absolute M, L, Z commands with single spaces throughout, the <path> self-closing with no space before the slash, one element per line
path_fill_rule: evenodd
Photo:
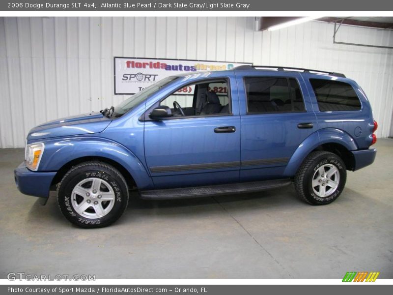
<path fill-rule="evenodd" d="M 320 167 L 322 167 L 322 171 L 326 171 L 326 168 L 328 168 L 325 174 L 326 176 L 329 174 L 329 166 L 332 165 L 337 168 L 339 174 L 335 175 L 335 177 L 338 179 L 338 185 L 335 185 L 337 187 L 336 189 L 329 186 L 329 178 L 324 178 L 327 180 L 318 180 L 319 172 L 316 172 Z M 304 160 L 298 172 L 296 173 L 295 189 L 299 197 L 311 205 L 330 204 L 339 197 L 342 190 L 344 189 L 346 176 L 347 173 L 345 163 L 339 156 L 328 151 L 314 151 L 310 153 L 309 156 Z M 313 189 L 312 180 L 314 177 L 316 178 L 315 181 L 319 181 L 321 182 L 321 185 L 324 185 L 325 190 L 328 188 L 325 197 L 318 195 L 318 193 L 322 194 L 322 191 L 319 191 L 321 186 L 315 186 Z M 332 192 L 329 193 L 329 190 Z"/>

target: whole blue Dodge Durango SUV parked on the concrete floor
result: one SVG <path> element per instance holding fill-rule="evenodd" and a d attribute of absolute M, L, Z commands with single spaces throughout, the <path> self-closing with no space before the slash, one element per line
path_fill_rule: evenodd
<path fill-rule="evenodd" d="M 311 205 L 338 198 L 346 171 L 374 161 L 377 123 L 338 73 L 244 65 L 165 78 L 100 113 L 28 133 L 18 189 L 57 191 L 72 223 L 96 228 L 143 199 L 248 193 L 294 183 Z"/>

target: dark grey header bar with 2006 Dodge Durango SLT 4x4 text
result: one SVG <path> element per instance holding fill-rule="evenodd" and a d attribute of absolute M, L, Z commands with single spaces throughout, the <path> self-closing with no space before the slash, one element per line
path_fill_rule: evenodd
<path fill-rule="evenodd" d="M 5 0 L 1 11 L 390 11 L 389 0 Z"/>

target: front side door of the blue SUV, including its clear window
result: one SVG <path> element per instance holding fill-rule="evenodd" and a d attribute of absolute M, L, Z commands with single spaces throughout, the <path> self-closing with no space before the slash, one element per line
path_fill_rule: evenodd
<path fill-rule="evenodd" d="M 155 188 L 239 180 L 241 124 L 229 84 L 224 77 L 181 85 L 158 103 L 173 117 L 145 121 L 145 160 Z"/>

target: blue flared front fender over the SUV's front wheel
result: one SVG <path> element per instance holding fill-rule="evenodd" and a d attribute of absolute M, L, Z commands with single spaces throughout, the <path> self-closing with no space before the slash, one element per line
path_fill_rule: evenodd
<path fill-rule="evenodd" d="M 139 189 L 152 187 L 152 181 L 140 159 L 124 146 L 99 137 L 78 137 L 43 141 L 44 154 L 39 171 L 58 171 L 72 160 L 82 157 L 104 157 L 123 166 Z"/>

